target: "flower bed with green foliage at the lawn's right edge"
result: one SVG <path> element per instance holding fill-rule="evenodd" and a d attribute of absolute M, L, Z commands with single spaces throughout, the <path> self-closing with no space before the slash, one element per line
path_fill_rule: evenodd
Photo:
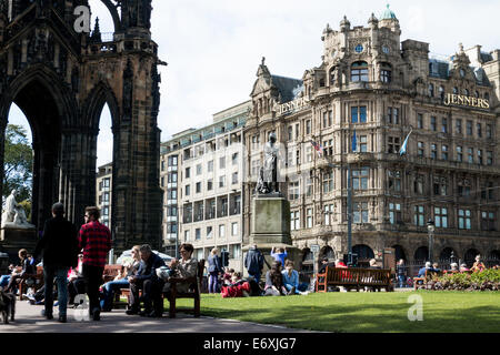
<path fill-rule="evenodd" d="M 444 274 L 429 281 L 424 290 L 456 290 L 456 291 L 499 291 L 500 270 L 484 270 L 472 274 Z"/>

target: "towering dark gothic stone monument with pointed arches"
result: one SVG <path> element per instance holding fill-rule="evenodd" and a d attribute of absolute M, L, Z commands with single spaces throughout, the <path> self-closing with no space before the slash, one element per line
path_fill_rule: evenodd
<path fill-rule="evenodd" d="M 31 223 L 42 229 L 60 201 L 69 220 L 81 225 L 84 207 L 96 204 L 97 139 L 107 103 L 114 142 L 113 246 L 116 252 L 142 243 L 158 248 L 157 67 L 163 62 L 151 40 L 151 0 L 101 1 L 113 19 L 112 39 L 101 37 L 98 23 L 92 33 L 77 32 L 81 13 L 74 10 L 88 8 L 88 0 L 0 1 L 0 175 L 14 102 L 33 134 Z"/>

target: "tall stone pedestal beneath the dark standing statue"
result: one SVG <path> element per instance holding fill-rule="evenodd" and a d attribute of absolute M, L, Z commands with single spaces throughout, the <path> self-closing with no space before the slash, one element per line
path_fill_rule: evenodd
<path fill-rule="evenodd" d="M 292 260 L 297 268 L 300 255 L 299 250 L 292 245 L 290 235 L 290 202 L 281 193 L 258 194 L 252 200 L 251 209 L 250 243 L 242 248 L 243 260 L 250 246 L 257 245 L 267 263 L 272 265 L 272 247 L 287 247 L 287 258 Z M 267 263 L 262 270 L 262 280 L 269 270 Z M 247 268 L 243 270 L 243 276 L 248 276 Z"/>

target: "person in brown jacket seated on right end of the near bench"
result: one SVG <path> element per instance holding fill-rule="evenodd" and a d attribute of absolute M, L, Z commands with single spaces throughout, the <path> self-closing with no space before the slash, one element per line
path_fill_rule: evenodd
<path fill-rule="evenodd" d="M 179 247 L 179 253 L 181 255 L 180 260 L 172 258 L 170 262 L 170 276 L 164 278 L 162 275 L 162 280 L 166 282 L 163 286 L 163 295 L 167 298 L 170 298 L 171 295 L 171 283 L 169 282 L 170 277 L 174 278 L 190 278 L 197 276 L 198 272 L 198 261 L 192 257 L 192 252 L 194 247 L 192 244 L 184 243 Z M 191 288 L 191 282 L 178 282 L 176 283 L 176 290 L 178 293 L 186 293 Z"/>

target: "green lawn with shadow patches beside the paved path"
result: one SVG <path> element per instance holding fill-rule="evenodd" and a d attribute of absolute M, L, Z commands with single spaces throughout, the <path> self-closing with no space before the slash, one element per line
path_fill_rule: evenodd
<path fill-rule="evenodd" d="M 423 301 L 423 321 L 410 322 L 410 295 Z M 192 300 L 178 300 L 178 306 Z M 168 302 L 166 302 L 168 310 Z M 307 296 L 222 298 L 202 294 L 201 314 L 326 332 L 500 332 L 499 292 L 320 293 Z"/>

